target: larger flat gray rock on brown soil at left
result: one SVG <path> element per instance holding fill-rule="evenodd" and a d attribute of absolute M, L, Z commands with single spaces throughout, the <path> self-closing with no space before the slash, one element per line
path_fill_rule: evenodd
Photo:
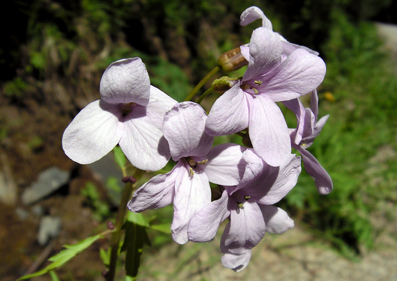
<path fill-rule="evenodd" d="M 38 181 L 33 183 L 30 188 L 22 194 L 24 204 L 38 202 L 47 195 L 53 193 L 58 188 L 66 184 L 69 180 L 70 172 L 60 170 L 59 168 L 49 168 L 38 175 Z"/>

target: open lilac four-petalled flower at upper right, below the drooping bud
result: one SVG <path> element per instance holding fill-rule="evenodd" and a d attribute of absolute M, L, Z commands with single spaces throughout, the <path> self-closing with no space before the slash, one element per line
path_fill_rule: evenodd
<path fill-rule="evenodd" d="M 286 120 L 276 102 L 317 88 L 325 76 L 325 63 L 302 48 L 286 56 L 279 35 L 265 27 L 252 33 L 247 60 L 242 80 L 212 106 L 205 130 L 211 136 L 221 136 L 249 127 L 254 150 L 269 165 L 279 166 L 288 158 L 291 145 Z"/>

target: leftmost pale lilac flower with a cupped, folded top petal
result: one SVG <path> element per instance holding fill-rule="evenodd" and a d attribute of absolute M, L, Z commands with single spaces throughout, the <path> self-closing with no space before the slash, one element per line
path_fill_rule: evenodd
<path fill-rule="evenodd" d="M 162 122 L 177 102 L 150 86 L 141 58 L 111 63 L 100 81 L 100 97 L 65 129 L 65 154 L 77 163 L 89 164 L 119 144 L 133 166 L 153 171 L 163 168 L 170 153 Z"/>

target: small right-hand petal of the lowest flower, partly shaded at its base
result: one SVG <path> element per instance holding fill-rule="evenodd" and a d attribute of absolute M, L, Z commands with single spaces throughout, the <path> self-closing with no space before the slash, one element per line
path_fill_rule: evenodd
<path fill-rule="evenodd" d="M 265 218 L 266 232 L 281 234 L 294 227 L 294 221 L 286 211 L 272 205 L 259 205 Z"/>

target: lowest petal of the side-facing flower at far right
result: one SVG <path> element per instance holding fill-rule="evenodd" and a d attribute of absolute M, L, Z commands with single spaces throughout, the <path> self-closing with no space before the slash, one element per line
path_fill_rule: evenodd
<path fill-rule="evenodd" d="M 309 151 L 301 148 L 298 150 L 302 155 L 304 169 L 306 172 L 313 177 L 316 182 L 317 190 L 320 194 L 328 194 L 332 191 L 333 184 L 332 179 L 329 177 L 328 172 L 325 168 L 322 168 L 320 163 L 318 163 L 315 156 L 313 156 Z"/>

